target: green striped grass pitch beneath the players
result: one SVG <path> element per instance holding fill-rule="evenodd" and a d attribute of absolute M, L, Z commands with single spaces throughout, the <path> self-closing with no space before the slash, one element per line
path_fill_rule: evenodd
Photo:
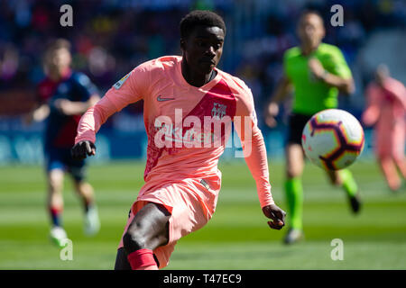
<path fill-rule="evenodd" d="M 220 162 L 221 163 L 221 162 Z M 73 260 L 60 260 L 49 238 L 41 166 L 0 167 L 0 269 L 112 269 L 127 213 L 143 184 L 144 162 L 90 166 L 102 229 L 82 233 L 82 209 L 69 179 L 63 222 Z M 244 160 L 223 162 L 217 211 L 203 229 L 180 239 L 165 269 L 406 269 L 406 191 L 391 193 L 372 160 L 351 166 L 364 207 L 349 210 L 345 193 L 309 163 L 303 176 L 306 240 L 286 247 L 286 229 L 269 229 Z M 270 159 L 272 193 L 286 210 L 283 164 Z M 344 243 L 344 259 L 330 257 L 331 240 Z"/>

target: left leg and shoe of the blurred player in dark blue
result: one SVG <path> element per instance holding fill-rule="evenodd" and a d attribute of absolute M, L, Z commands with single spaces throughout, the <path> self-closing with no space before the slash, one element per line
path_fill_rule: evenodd
<path fill-rule="evenodd" d="M 61 168 L 52 168 L 47 172 L 48 195 L 47 209 L 51 218 L 51 240 L 58 246 L 62 246 L 62 240 L 67 238 L 65 230 L 62 228 L 61 214 L 63 211 L 63 175 Z"/>

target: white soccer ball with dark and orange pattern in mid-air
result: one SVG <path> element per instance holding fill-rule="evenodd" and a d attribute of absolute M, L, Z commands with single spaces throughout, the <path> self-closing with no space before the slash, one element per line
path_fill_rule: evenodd
<path fill-rule="evenodd" d="M 312 163 L 327 170 L 339 170 L 360 156 L 364 130 L 349 112 L 327 109 L 314 114 L 306 123 L 301 145 Z"/>

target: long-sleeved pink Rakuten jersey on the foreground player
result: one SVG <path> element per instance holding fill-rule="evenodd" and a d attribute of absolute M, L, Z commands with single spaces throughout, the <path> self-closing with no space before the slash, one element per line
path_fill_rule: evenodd
<path fill-rule="evenodd" d="M 251 90 L 242 80 L 217 68 L 217 76 L 206 85 L 189 85 L 181 74 L 181 60 L 179 56 L 168 56 L 135 67 L 83 115 L 75 142 L 85 139 L 95 142 L 97 130 L 110 115 L 143 99 L 148 148 L 145 184 L 139 198 L 165 184 L 204 179 L 201 184 L 210 189 L 198 189 L 195 193 L 211 216 L 221 185 L 217 162 L 229 133 L 226 129 L 216 131 L 206 120 L 223 121 L 224 127 L 228 127 L 229 119 L 234 121 L 243 143 L 245 161 L 256 181 L 261 206 L 273 204 L 266 150 L 256 124 Z M 219 145 L 207 145 L 208 139 L 217 139 Z"/>

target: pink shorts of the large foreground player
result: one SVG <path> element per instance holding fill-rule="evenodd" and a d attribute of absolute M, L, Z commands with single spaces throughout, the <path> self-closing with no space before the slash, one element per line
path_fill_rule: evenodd
<path fill-rule="evenodd" d="M 211 218 L 212 214 L 208 213 L 202 200 L 198 197 L 201 189 L 202 185 L 199 185 L 197 180 L 186 179 L 141 193 L 132 206 L 123 236 L 134 219 L 134 215 L 146 203 L 162 204 L 171 213 L 169 241 L 167 245 L 154 249 L 153 254 L 158 258 L 160 269 L 167 266 L 177 241 L 190 232 L 202 228 Z M 216 195 L 215 201 L 217 202 L 217 193 L 208 192 Z M 118 248 L 120 247 L 123 247 L 123 237 Z"/>

